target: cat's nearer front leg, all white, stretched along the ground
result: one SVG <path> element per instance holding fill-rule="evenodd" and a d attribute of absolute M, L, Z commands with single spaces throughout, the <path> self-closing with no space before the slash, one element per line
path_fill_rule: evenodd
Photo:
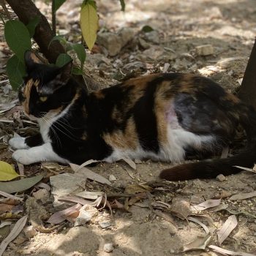
<path fill-rule="evenodd" d="M 59 157 L 53 151 L 50 143 L 45 143 L 41 146 L 35 146 L 29 149 L 18 149 L 12 154 L 12 158 L 23 165 L 31 165 L 35 162 L 61 162 L 68 163 L 67 159 Z"/>

